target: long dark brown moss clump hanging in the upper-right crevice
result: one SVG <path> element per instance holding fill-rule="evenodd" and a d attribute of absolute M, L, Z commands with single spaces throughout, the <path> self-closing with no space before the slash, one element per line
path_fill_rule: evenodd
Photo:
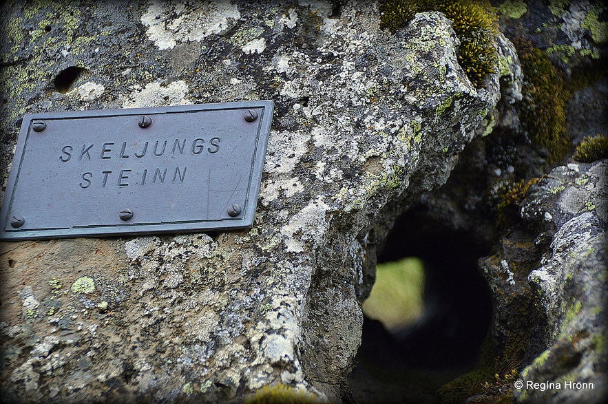
<path fill-rule="evenodd" d="M 570 94 L 562 74 L 547 55 L 530 41 L 514 41 L 524 74 L 521 122 L 534 145 L 549 151 L 549 162 L 563 158 L 570 141 L 566 135 L 566 101 Z"/>

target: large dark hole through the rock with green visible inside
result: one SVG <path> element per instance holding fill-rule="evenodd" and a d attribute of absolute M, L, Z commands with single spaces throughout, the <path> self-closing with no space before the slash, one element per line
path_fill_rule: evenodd
<path fill-rule="evenodd" d="M 490 252 L 421 208 L 399 217 L 363 305 L 349 380 L 357 401 L 435 403 L 439 387 L 474 368 L 492 320 L 477 261 Z"/>

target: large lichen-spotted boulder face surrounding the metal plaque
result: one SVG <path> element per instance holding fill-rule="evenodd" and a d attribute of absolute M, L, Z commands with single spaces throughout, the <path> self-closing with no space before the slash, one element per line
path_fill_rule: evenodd
<path fill-rule="evenodd" d="M 2 244 L 2 395 L 239 401 L 282 382 L 339 400 L 375 245 L 483 134 L 498 75 L 472 86 L 442 14 L 392 35 L 370 1 L 5 8 L 5 187 L 26 112 L 273 99 L 275 116 L 249 231 Z"/>

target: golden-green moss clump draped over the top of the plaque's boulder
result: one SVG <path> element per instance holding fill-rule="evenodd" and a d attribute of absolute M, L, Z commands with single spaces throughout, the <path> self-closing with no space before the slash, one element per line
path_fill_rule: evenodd
<path fill-rule="evenodd" d="M 452 20 L 461 41 L 458 61 L 469 80 L 481 87 L 483 80 L 496 72 L 498 54 L 494 47 L 496 13 L 488 2 L 466 0 L 385 0 L 379 6 L 381 27 L 395 32 L 406 26 L 417 12 L 439 11 Z"/>

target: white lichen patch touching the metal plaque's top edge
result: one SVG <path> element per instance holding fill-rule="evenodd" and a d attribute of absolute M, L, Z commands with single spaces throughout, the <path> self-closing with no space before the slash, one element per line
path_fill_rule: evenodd
<path fill-rule="evenodd" d="M 185 81 L 178 80 L 167 85 L 155 82 L 149 83 L 144 88 L 134 88 L 134 91 L 124 97 L 123 108 L 149 108 L 164 107 L 167 105 L 189 105 L 191 100 L 186 98 L 188 85 Z"/>

